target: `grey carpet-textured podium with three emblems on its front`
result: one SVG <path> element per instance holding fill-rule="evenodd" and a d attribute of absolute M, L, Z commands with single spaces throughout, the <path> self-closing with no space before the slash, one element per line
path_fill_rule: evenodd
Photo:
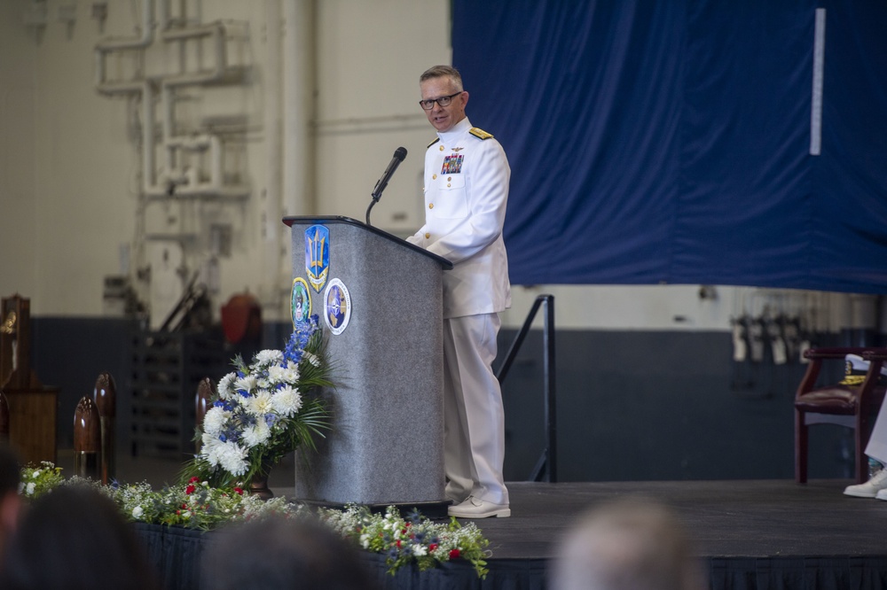
<path fill-rule="evenodd" d="M 294 321 L 318 314 L 337 384 L 325 392 L 332 429 L 317 453 L 296 456 L 295 497 L 443 506 L 442 272 L 451 262 L 348 217 L 283 221 Z"/>

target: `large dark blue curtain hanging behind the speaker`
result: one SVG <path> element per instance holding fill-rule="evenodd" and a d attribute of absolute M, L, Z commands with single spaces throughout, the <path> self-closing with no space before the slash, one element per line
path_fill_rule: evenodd
<path fill-rule="evenodd" d="M 512 167 L 513 283 L 887 292 L 887 3 L 452 5 L 468 116 Z"/>

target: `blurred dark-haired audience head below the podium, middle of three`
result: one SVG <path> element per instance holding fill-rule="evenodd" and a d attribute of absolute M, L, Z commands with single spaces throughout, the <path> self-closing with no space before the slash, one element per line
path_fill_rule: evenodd
<path fill-rule="evenodd" d="M 357 548 L 308 518 L 263 518 L 216 533 L 203 553 L 207 590 L 369 590 Z"/>

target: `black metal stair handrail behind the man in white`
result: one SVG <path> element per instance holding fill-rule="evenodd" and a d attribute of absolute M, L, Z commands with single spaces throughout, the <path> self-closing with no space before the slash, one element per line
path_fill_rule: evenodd
<path fill-rule="evenodd" d="M 555 371 L 553 295 L 539 295 L 536 298 L 536 301 L 533 302 L 533 307 L 530 308 L 530 314 L 527 315 L 527 319 L 523 322 L 523 327 L 521 328 L 521 331 L 518 332 L 517 336 L 514 337 L 514 342 L 512 342 L 511 348 L 508 349 L 508 353 L 505 356 L 505 360 L 502 361 L 502 366 L 499 367 L 496 373 L 496 377 L 498 378 L 500 384 L 505 381 L 505 378 L 508 375 L 508 370 L 511 369 L 512 364 L 514 364 L 514 359 L 517 357 L 517 353 L 520 350 L 521 345 L 523 344 L 523 340 L 527 338 L 527 334 L 530 333 L 530 326 L 532 326 L 533 320 L 536 319 L 536 314 L 538 313 L 539 307 L 545 307 L 546 310 L 542 327 L 542 370 L 545 379 L 544 402 L 546 420 L 546 448 L 542 450 L 542 454 L 539 456 L 538 462 L 536 462 L 536 466 L 533 468 L 533 471 L 530 474 L 530 480 L 547 481 L 554 483 L 557 481 L 557 401 L 554 387 Z M 545 471 L 545 477 L 542 476 L 543 471 Z"/>

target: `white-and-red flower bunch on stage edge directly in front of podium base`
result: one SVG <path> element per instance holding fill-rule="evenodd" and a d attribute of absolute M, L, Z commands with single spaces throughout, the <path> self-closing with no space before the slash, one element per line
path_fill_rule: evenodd
<path fill-rule="evenodd" d="M 397 508 L 389 506 L 385 515 L 373 514 L 366 507 L 349 506 L 344 510 L 320 508 L 320 519 L 346 539 L 374 553 L 387 555 L 389 573 L 394 574 L 407 563 L 415 562 L 420 571 L 438 563 L 462 558 L 485 578 L 489 556 L 489 540 L 483 538 L 474 523 L 460 525 L 455 518 L 449 523 L 435 523 L 412 512 L 408 519 Z"/>

